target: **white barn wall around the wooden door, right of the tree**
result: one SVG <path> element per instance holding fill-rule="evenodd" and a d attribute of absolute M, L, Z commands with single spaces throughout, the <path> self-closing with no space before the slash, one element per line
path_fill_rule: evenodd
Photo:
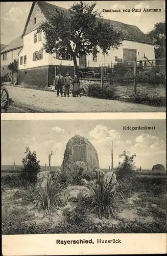
<path fill-rule="evenodd" d="M 154 46 L 153 45 L 148 45 L 148 44 L 142 44 L 140 42 L 134 42 L 134 41 L 127 41 L 124 40 L 123 45 L 116 49 L 111 49 L 108 52 L 108 56 L 105 54 L 103 55 L 102 53 L 98 53 L 97 56 L 97 62 L 92 61 L 92 54 L 87 56 L 87 67 L 99 67 L 102 64 L 110 64 L 111 62 L 114 63 L 115 61 L 115 56 L 117 58 L 122 58 L 123 59 L 123 49 L 136 49 L 137 50 L 137 60 L 140 60 L 141 58 L 145 56 L 148 59 L 155 59 L 155 52 L 154 52 Z"/>

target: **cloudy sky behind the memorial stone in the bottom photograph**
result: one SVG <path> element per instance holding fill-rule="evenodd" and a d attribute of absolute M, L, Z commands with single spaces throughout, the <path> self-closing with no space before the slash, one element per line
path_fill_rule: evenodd
<path fill-rule="evenodd" d="M 155 130 L 125 131 L 123 126 L 155 126 Z M 135 166 L 166 168 L 165 120 L 3 120 L 2 165 L 21 164 L 26 147 L 36 151 L 41 165 L 48 165 L 53 145 L 52 166 L 61 166 L 66 143 L 75 134 L 87 138 L 96 148 L 100 168 L 110 165 L 109 145 L 113 141 L 114 167 L 126 149 L 136 154 Z"/>

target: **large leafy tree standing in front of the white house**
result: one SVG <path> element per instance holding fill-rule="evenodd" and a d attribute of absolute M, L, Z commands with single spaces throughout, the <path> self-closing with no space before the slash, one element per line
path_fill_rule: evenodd
<path fill-rule="evenodd" d="M 116 32 L 109 20 L 102 19 L 94 11 L 96 3 L 76 3 L 67 11 L 57 8 L 56 14 L 43 22 L 38 31 L 44 31 L 43 48 L 47 53 L 57 53 L 61 57 L 70 54 L 78 74 L 77 57 L 92 53 L 96 56 L 100 49 L 108 55 L 110 48 L 118 49 L 122 44 L 122 32 Z"/>

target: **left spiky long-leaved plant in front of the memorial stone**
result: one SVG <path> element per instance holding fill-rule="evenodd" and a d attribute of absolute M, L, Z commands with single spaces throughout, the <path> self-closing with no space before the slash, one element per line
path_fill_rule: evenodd
<path fill-rule="evenodd" d="M 61 185 L 58 182 L 53 182 L 52 177 L 49 175 L 47 177 L 47 183 L 45 187 L 41 187 L 38 190 L 37 198 L 34 203 L 39 207 L 42 207 L 46 212 L 48 212 L 51 207 L 58 207 L 61 205 Z"/>

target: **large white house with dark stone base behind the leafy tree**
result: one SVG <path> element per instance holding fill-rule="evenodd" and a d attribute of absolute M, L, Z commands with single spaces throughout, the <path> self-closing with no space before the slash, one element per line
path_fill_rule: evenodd
<path fill-rule="evenodd" d="M 56 58 L 56 54 L 48 54 L 42 50 L 43 32 L 38 33 L 37 28 L 41 22 L 50 18 L 57 8 L 68 12 L 67 9 L 57 7 L 46 2 L 33 2 L 25 29 L 22 33 L 23 48 L 19 52 L 18 83 L 45 87 L 53 83 L 57 71 L 65 75 L 68 71 L 74 76 L 74 62 L 69 54 L 65 59 Z M 116 61 L 140 60 L 144 56 L 154 59 L 154 45 L 150 39 L 136 26 L 127 25 L 121 22 L 110 20 L 117 31 L 124 34 L 123 45 L 118 50 L 111 49 L 107 55 L 99 53 L 97 57 L 92 55 L 83 56 L 77 59 L 78 65 L 82 67 L 99 67 L 102 63 Z"/>

